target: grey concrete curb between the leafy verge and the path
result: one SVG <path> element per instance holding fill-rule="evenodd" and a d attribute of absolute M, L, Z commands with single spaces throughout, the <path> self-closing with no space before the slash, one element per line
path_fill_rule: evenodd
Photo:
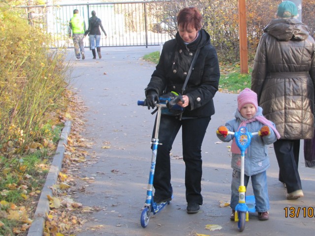
<path fill-rule="evenodd" d="M 44 225 L 46 214 L 49 212 L 49 200 L 47 195 L 52 196 L 53 192 L 49 188 L 50 186 L 56 184 L 59 172 L 62 168 L 63 154 L 65 152 L 65 144 L 67 144 L 68 135 L 71 131 L 71 121 L 65 121 L 63 131 L 61 133 L 61 139 L 58 143 L 56 154 L 53 158 L 53 162 L 49 169 L 48 175 L 46 177 L 46 182 L 43 190 L 40 194 L 38 205 L 34 213 L 34 221 L 28 231 L 28 236 L 42 236 L 44 232 Z"/>

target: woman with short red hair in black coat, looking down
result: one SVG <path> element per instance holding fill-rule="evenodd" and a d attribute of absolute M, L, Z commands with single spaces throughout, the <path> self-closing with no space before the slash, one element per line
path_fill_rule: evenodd
<path fill-rule="evenodd" d="M 145 104 L 155 107 L 159 96 L 174 91 L 182 95 L 178 105 L 185 108 L 182 116 L 162 115 L 159 126 L 154 201 L 170 201 L 172 196 L 170 151 L 182 127 L 183 160 L 187 212 L 196 213 L 202 205 L 201 145 L 211 116 L 215 113 L 213 97 L 220 79 L 218 56 L 210 43 L 210 35 L 201 29 L 202 16 L 197 8 L 183 8 L 177 16 L 179 31 L 176 37 L 163 45 L 156 70 L 145 89 Z M 183 84 L 191 61 L 200 49 L 185 91 Z M 155 132 L 155 130 L 153 131 Z"/>

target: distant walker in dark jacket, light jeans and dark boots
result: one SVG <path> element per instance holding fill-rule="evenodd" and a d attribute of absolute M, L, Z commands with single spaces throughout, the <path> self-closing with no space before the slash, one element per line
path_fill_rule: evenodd
<path fill-rule="evenodd" d="M 107 38 L 107 34 L 105 29 L 103 28 L 102 21 L 97 18 L 96 12 L 92 11 L 92 17 L 89 19 L 89 28 L 84 32 L 84 35 L 87 36 L 89 34 L 90 42 L 91 42 L 91 49 L 93 54 L 93 59 L 96 59 L 96 52 L 95 47 L 97 50 L 98 58 L 101 59 L 102 55 L 100 54 L 100 29 L 102 29 L 103 33 L 105 34 L 105 38 Z"/>

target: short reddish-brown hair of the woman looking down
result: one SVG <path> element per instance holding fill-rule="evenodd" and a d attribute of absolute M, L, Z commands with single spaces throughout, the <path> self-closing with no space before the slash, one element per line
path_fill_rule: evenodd
<path fill-rule="evenodd" d="M 185 7 L 177 15 L 177 25 L 184 29 L 191 25 L 197 30 L 201 29 L 202 16 L 196 7 Z"/>

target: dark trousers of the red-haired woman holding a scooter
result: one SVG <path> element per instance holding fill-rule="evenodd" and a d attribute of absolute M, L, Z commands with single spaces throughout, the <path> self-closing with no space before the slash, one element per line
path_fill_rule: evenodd
<path fill-rule="evenodd" d="M 174 116 L 161 116 L 158 153 L 153 186 L 155 195 L 169 198 L 172 194 L 170 151 L 175 137 L 182 127 L 183 160 L 185 162 L 186 201 L 202 205 L 201 145 L 210 117 L 179 120 Z M 153 134 L 155 133 L 155 129 Z"/>

